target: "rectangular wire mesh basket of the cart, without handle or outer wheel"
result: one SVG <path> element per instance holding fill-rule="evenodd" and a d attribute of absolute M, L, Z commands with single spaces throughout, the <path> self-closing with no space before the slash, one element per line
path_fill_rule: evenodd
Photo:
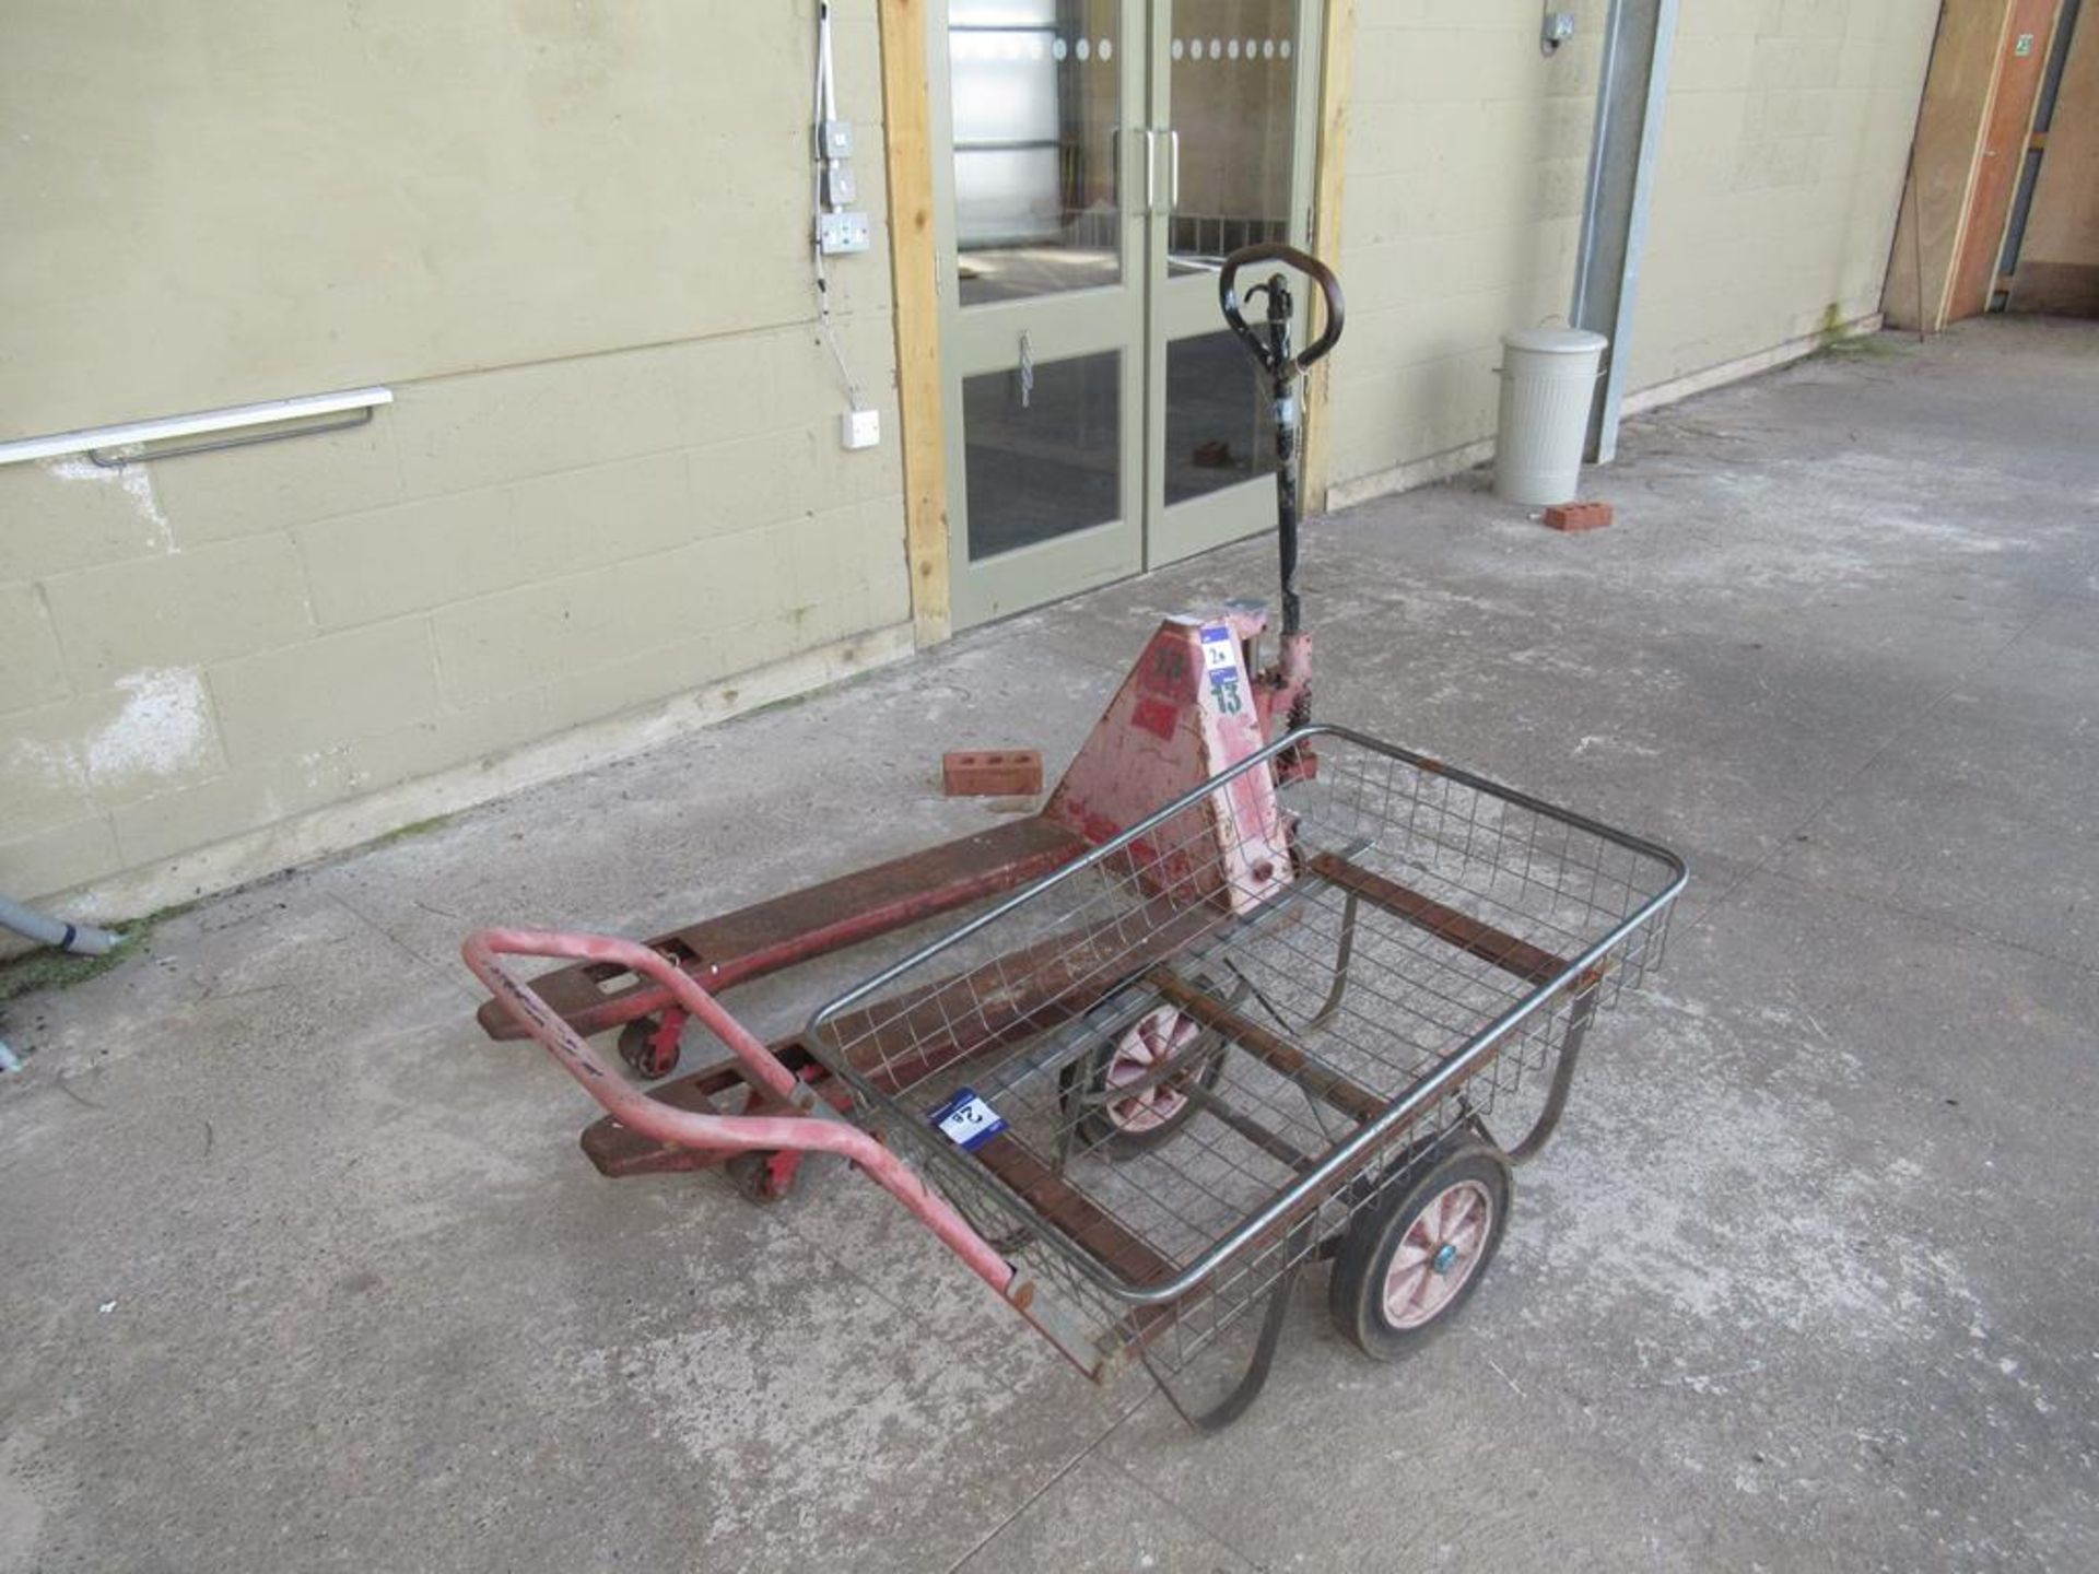
<path fill-rule="evenodd" d="M 1070 1310 L 1089 1370 L 1178 1368 L 1448 1133 L 1522 1146 L 1560 1058 L 1658 961 L 1662 850 L 1310 741 L 1280 823 L 1182 800 L 810 1024 L 865 1116 Z M 934 1125 L 963 1098 L 997 1123 L 970 1148 Z"/>

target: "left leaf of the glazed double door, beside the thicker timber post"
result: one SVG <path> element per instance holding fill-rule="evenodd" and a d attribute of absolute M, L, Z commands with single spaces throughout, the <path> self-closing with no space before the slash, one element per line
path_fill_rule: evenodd
<path fill-rule="evenodd" d="M 1146 252 L 1125 193 L 1157 139 L 1142 0 L 949 0 L 947 23 L 928 46 L 951 151 L 949 596 L 968 625 L 1144 565 Z"/>

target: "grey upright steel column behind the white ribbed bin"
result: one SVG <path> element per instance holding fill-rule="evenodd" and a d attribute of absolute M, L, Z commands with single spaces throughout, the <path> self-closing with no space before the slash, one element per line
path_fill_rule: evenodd
<path fill-rule="evenodd" d="M 1589 411 L 1591 464 L 1618 451 L 1618 405 L 1639 296 L 1639 254 L 1648 243 L 1654 153 L 1669 90 L 1669 50 L 1677 0 L 1612 0 L 1604 23 L 1604 65 L 1595 94 L 1595 136 L 1583 195 L 1581 250 L 1574 258 L 1576 327 L 1604 334 L 1604 388 Z"/>

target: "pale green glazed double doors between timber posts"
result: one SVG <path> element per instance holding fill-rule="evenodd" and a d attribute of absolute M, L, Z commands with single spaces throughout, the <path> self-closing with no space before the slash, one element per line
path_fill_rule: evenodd
<path fill-rule="evenodd" d="M 966 628 L 1274 525 L 1268 399 L 1217 267 L 1310 235 L 1318 0 L 949 0 L 945 21 L 928 48 Z"/>

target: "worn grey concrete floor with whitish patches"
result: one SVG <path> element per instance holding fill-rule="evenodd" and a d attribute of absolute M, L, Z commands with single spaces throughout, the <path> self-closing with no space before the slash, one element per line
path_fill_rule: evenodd
<path fill-rule="evenodd" d="M 598 1179 L 455 946 L 646 934 L 991 821 L 1152 619 L 961 638 L 168 923 L 21 1003 L 0 1568 L 2099 1568 L 2099 325 L 1881 340 L 1627 430 L 1560 537 L 1478 478 L 1320 520 L 1320 709 L 1673 842 L 1446 1339 L 1299 1286 L 1190 1435 L 888 1198 Z M 842 980 L 751 991 L 787 1026 Z"/>

